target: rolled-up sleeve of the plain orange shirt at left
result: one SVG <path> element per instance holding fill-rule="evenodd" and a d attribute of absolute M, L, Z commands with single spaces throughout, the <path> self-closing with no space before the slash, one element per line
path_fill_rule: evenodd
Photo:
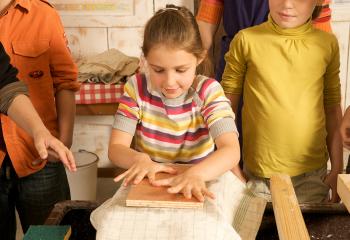
<path fill-rule="evenodd" d="M 74 63 L 64 28 L 57 12 L 52 20 L 52 36 L 50 42 L 50 70 L 55 91 L 62 89 L 78 91 L 80 83 L 77 81 L 78 68 Z"/>

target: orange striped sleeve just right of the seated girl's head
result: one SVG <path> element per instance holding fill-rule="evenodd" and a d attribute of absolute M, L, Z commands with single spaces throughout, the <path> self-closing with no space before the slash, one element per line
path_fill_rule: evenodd
<path fill-rule="evenodd" d="M 211 24 L 219 24 L 223 9 L 223 0 L 202 0 L 196 19 Z"/>

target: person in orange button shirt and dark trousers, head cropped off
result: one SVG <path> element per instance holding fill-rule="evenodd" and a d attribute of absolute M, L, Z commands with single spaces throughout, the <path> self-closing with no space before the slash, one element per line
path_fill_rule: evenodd
<path fill-rule="evenodd" d="M 2 0 L 0 29 L 0 42 L 36 111 L 51 134 L 69 148 L 79 84 L 57 12 L 43 0 Z M 53 205 L 69 199 L 70 193 L 55 154 L 41 159 L 32 138 L 6 115 L 1 115 L 1 125 L 6 148 L 0 151 L 0 164 L 10 174 L 0 180 L 0 232 L 14 239 L 15 208 L 26 231 L 31 224 L 43 224 Z"/>

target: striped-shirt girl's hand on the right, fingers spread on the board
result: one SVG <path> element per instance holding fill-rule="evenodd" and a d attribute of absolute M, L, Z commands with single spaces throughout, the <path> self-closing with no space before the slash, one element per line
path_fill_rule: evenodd
<path fill-rule="evenodd" d="M 174 177 L 156 180 L 153 182 L 153 185 L 170 186 L 170 188 L 168 188 L 169 193 L 181 192 L 187 199 L 191 199 L 193 195 L 200 202 L 204 201 L 205 196 L 211 199 L 215 198 L 214 194 L 207 189 L 200 175 L 191 170 L 187 170 Z"/>

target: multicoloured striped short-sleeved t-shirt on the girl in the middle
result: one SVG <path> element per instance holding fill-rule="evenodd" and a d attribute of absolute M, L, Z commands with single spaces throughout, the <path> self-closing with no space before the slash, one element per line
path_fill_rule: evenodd
<path fill-rule="evenodd" d="M 214 139 L 237 132 L 220 84 L 197 76 L 189 91 L 167 99 L 143 74 L 132 76 L 119 100 L 113 128 L 135 135 L 135 149 L 157 162 L 194 163 L 214 151 Z"/>

